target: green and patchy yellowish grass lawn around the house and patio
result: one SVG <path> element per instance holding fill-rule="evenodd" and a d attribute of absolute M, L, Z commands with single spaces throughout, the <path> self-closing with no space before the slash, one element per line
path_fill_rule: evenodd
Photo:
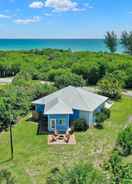
<path fill-rule="evenodd" d="M 13 161 L 9 160 L 9 133 L 0 135 L 0 169 L 9 169 L 17 184 L 45 184 L 48 172 L 54 167 L 71 165 L 78 160 L 99 167 L 109 158 L 119 131 L 130 123 L 131 115 L 132 98 L 123 97 L 114 103 L 111 118 L 105 122 L 104 129 L 76 133 L 76 145 L 51 146 L 47 145 L 47 135 L 36 135 L 37 124 L 25 118 L 13 129 Z"/>

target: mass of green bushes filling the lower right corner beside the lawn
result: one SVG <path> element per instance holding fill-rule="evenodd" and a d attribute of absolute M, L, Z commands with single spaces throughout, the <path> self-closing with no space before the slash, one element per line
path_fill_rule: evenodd
<path fill-rule="evenodd" d="M 128 155 L 132 155 L 132 125 L 119 133 L 116 147 L 105 167 L 111 172 L 114 184 L 132 183 L 132 163 L 123 163 L 123 159 Z"/>

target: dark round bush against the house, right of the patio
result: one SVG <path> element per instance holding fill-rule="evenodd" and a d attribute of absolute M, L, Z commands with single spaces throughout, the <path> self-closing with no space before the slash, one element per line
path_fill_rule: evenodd
<path fill-rule="evenodd" d="M 78 119 L 73 122 L 73 127 L 75 131 L 86 131 L 88 126 L 84 119 Z"/>

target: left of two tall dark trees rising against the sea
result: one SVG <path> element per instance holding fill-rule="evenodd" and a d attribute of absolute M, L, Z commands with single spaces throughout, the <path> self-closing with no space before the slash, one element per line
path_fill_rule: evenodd
<path fill-rule="evenodd" d="M 117 50 L 117 35 L 114 33 L 114 31 L 106 33 L 105 44 L 112 53 L 116 52 L 116 50 Z"/>

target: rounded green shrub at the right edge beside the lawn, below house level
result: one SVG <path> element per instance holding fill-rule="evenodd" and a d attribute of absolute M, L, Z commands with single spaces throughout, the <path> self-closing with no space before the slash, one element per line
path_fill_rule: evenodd
<path fill-rule="evenodd" d="M 117 146 L 124 156 L 132 154 L 132 125 L 125 128 L 118 136 Z"/>

